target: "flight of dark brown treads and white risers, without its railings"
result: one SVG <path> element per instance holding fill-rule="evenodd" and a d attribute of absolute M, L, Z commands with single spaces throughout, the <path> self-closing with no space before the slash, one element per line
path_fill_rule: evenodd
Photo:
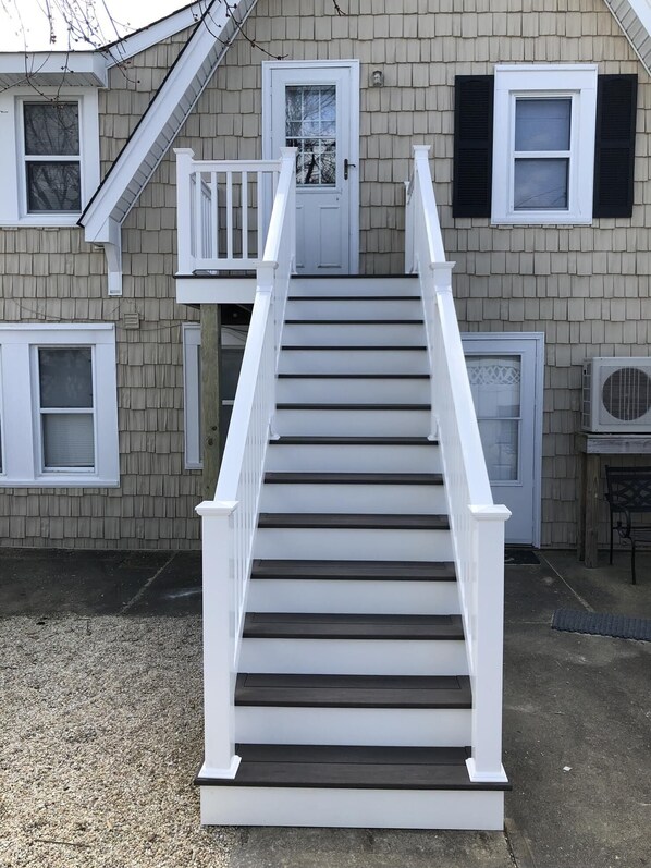
<path fill-rule="evenodd" d="M 501 828 L 471 780 L 472 689 L 422 299 L 293 279 L 234 680 L 233 778 L 202 822 Z"/>

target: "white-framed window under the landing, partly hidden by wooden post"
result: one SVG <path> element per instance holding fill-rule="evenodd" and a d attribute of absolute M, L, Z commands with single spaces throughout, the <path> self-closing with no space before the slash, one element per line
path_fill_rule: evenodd
<path fill-rule="evenodd" d="M 222 395 L 221 421 L 223 438 L 229 430 L 231 413 L 237 391 L 239 368 L 246 345 L 246 327 L 224 326 L 221 331 L 220 386 Z M 201 438 L 201 327 L 183 325 L 183 413 L 185 421 L 185 467 L 204 466 Z"/>

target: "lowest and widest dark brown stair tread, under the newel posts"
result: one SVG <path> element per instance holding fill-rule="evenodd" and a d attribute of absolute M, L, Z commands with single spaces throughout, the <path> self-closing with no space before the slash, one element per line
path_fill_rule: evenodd
<path fill-rule="evenodd" d="M 509 790 L 507 783 L 474 783 L 465 747 L 367 747 L 359 745 L 235 746 L 242 762 L 234 779 L 198 777 L 204 786 L 346 790 Z"/>

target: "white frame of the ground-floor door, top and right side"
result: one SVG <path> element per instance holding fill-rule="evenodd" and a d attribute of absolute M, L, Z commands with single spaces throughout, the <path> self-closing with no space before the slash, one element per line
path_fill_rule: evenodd
<path fill-rule="evenodd" d="M 531 341 L 535 347 L 535 382 L 533 382 L 533 546 L 540 548 L 542 523 L 542 412 L 544 394 L 544 332 L 542 331 L 503 331 L 503 332 L 464 332 L 462 342 L 464 351 L 471 353 L 474 341 L 490 344 L 490 353 L 513 354 L 513 342 Z M 511 344 L 511 347 L 509 347 Z"/>

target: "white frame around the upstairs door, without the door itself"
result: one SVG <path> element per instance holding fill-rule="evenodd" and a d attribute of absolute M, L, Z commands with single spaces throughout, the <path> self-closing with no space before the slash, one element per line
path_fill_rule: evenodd
<path fill-rule="evenodd" d="M 273 159 L 271 154 L 271 75 L 273 70 L 317 70 L 346 69 L 351 75 L 349 155 L 347 159 L 355 167 L 355 183 L 351 184 L 348 196 L 348 273 L 359 272 L 359 61 L 358 60 L 267 60 L 262 61 L 262 159 Z"/>

